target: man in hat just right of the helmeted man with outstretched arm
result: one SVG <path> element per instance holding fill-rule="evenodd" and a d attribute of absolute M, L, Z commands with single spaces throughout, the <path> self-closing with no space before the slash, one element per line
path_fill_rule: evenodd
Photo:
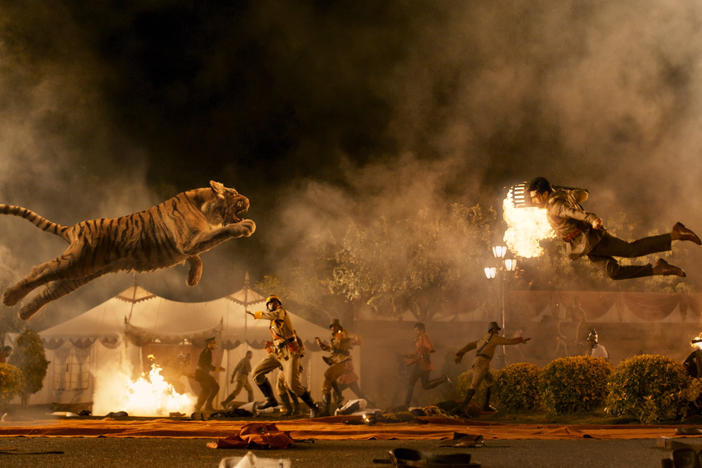
<path fill-rule="evenodd" d="M 329 325 L 332 332 L 329 344 L 323 342 L 318 336 L 314 339 L 319 347 L 324 351 L 331 351 L 331 356 L 325 356 L 324 362 L 329 364 L 329 368 L 324 373 L 324 383 L 322 384 L 322 407 L 320 414 L 328 416 L 330 413 L 331 391 L 334 389 L 341 398 L 341 389 L 337 384 L 337 379 L 348 371 L 351 364 L 351 348 L 361 344 L 361 339 L 355 335 L 349 335 L 341 326 L 339 319 L 334 319 Z"/>

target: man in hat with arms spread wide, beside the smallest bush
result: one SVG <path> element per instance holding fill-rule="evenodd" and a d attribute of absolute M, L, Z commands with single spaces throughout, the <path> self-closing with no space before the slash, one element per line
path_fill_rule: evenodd
<path fill-rule="evenodd" d="M 513 345 L 519 343 L 526 343 L 531 338 L 522 338 L 517 336 L 515 338 L 505 338 L 500 336 L 500 326 L 497 322 L 490 322 L 488 325 L 487 335 L 480 338 L 478 341 L 471 341 L 463 348 L 461 348 L 456 353 L 456 364 L 461 362 L 463 355 L 466 354 L 471 349 L 475 349 L 475 359 L 473 360 L 473 380 L 471 381 L 468 393 L 466 393 L 466 398 L 463 400 L 463 410 L 468 408 L 468 403 L 473 399 L 475 391 L 478 389 L 483 380 L 488 383 L 487 396 L 485 398 L 485 405 L 483 406 L 484 411 L 491 411 L 493 408 L 490 406 L 490 386 L 494 382 L 494 378 L 490 373 L 490 361 L 495 355 L 495 348 L 498 346 Z"/>

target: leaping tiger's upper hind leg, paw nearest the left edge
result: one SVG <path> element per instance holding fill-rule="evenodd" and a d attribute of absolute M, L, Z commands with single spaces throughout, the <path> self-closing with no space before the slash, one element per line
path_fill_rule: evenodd
<path fill-rule="evenodd" d="M 76 252 L 76 253 L 74 253 Z M 77 265 L 79 248 L 69 247 L 64 253 L 53 260 L 44 262 L 32 268 L 32 272 L 22 280 L 13 284 L 5 290 L 2 295 L 2 302 L 6 306 L 17 304 L 24 296 L 29 294 L 34 288 L 60 278 L 78 279 L 80 272 L 75 267 Z M 74 270 L 71 272 L 71 270 Z"/>

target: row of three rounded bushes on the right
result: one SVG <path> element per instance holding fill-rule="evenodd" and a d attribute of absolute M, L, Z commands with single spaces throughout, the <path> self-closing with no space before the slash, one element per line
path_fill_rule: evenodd
<path fill-rule="evenodd" d="M 603 408 L 612 416 L 655 423 L 684 417 L 702 395 L 702 379 L 690 379 L 681 364 L 660 355 L 634 356 L 616 369 L 601 358 L 574 356 L 543 369 L 517 363 L 493 374 L 494 404 L 506 412 L 542 408 L 566 414 Z M 465 395 L 470 379 L 470 371 L 459 377 L 459 394 Z M 480 389 L 474 401 L 482 404 L 484 395 Z"/>

